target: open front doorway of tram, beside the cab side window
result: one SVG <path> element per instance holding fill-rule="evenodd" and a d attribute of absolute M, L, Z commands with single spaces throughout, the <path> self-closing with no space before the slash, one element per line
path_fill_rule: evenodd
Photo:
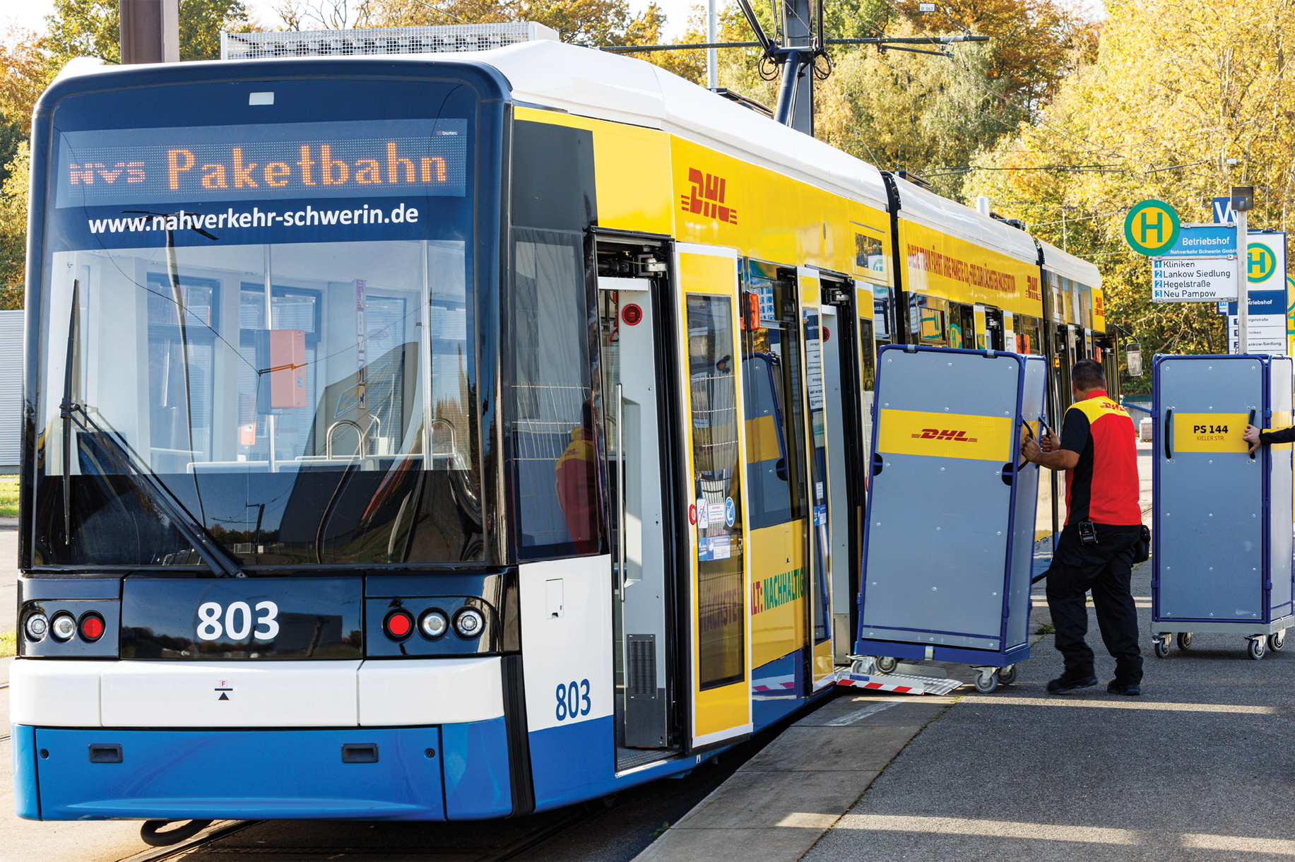
<path fill-rule="evenodd" d="M 658 760 L 671 734 L 673 643 L 666 557 L 658 383 L 663 246 L 600 234 L 598 313 L 603 457 L 611 541 L 616 770 Z M 645 751 L 646 749 L 646 751 Z M 657 751 L 653 751 L 657 749 Z"/>

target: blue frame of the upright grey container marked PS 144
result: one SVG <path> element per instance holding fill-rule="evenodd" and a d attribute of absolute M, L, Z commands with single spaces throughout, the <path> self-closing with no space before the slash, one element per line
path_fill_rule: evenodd
<path fill-rule="evenodd" d="M 1259 419 L 1259 427 L 1267 427 L 1269 419 L 1273 418 L 1273 393 L 1272 393 L 1272 374 L 1270 366 L 1273 357 L 1268 353 L 1204 353 L 1199 356 L 1182 356 L 1178 353 L 1156 353 L 1151 359 L 1151 452 L 1154 457 L 1151 458 L 1151 513 L 1153 513 L 1153 529 L 1151 529 L 1151 629 L 1153 632 L 1160 632 L 1160 625 L 1171 625 L 1169 633 L 1176 632 L 1190 632 L 1193 629 L 1184 628 L 1184 625 L 1190 623 L 1204 623 L 1211 626 L 1212 632 L 1217 632 L 1219 626 L 1235 628 L 1238 634 L 1252 634 L 1255 630 L 1255 620 L 1219 620 L 1219 619 L 1200 619 L 1200 617 L 1173 617 L 1163 619 L 1160 616 L 1160 453 L 1164 452 L 1164 428 L 1160 425 L 1160 365 L 1164 361 L 1193 361 L 1193 360 L 1256 360 L 1263 366 L 1263 399 L 1261 410 L 1255 418 Z M 1270 475 L 1273 471 L 1272 453 L 1268 447 L 1259 447 L 1257 457 L 1263 458 L 1261 467 L 1261 481 L 1263 481 L 1263 503 L 1260 506 L 1260 513 L 1263 518 L 1263 541 L 1260 547 L 1260 554 L 1263 559 L 1263 569 L 1260 577 L 1263 582 L 1260 584 L 1263 589 L 1263 619 L 1257 625 L 1270 625 L 1273 623 L 1272 603 L 1273 603 L 1273 560 L 1272 560 L 1272 488 L 1270 488 Z M 1278 617 L 1281 619 L 1281 617 Z"/>

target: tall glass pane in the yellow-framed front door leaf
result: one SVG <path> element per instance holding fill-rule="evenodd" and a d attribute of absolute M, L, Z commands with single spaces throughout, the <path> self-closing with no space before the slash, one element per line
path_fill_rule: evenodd
<path fill-rule="evenodd" d="M 712 689 L 742 680 L 746 670 L 737 346 L 726 296 L 690 295 L 686 312 L 693 492 L 725 511 L 698 531 L 698 683 Z"/>

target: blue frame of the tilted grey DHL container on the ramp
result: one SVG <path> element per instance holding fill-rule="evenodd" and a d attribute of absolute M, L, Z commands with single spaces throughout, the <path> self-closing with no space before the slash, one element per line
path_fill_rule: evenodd
<path fill-rule="evenodd" d="M 1004 554 L 1004 573 L 1002 573 L 1002 620 L 998 624 L 998 648 L 997 650 L 973 650 L 967 647 L 948 647 L 939 645 L 927 643 L 912 643 L 900 641 L 878 641 L 874 638 L 856 638 L 855 639 L 855 654 L 856 655 L 884 655 L 896 659 L 927 659 L 934 661 L 951 661 L 954 664 L 967 664 L 971 667 L 987 667 L 987 668 L 1005 668 L 1018 661 L 1024 661 L 1030 658 L 1030 635 L 1028 624 L 1026 626 L 1026 642 L 1017 645 L 1014 647 L 1006 647 L 1008 642 L 1008 620 L 1011 602 L 1011 553 L 1014 549 L 1015 538 L 1015 524 L 1017 524 L 1017 472 L 1015 470 L 1020 465 L 1020 426 L 1026 422 L 1022 415 L 1022 401 L 1024 399 L 1024 382 L 1026 382 L 1026 362 L 1030 361 L 1027 353 L 1013 353 L 1010 351 L 971 351 L 956 347 L 926 347 L 922 344 L 886 344 L 879 351 L 877 351 L 877 386 L 873 393 L 873 428 L 881 427 L 878 425 L 878 417 L 881 413 L 882 404 L 882 362 L 881 357 L 886 351 L 903 351 L 908 353 L 967 353 L 973 356 L 1013 356 L 1019 362 L 1019 370 L 1017 373 L 1017 410 L 1013 417 L 1014 434 L 1011 443 L 1011 465 L 1013 465 L 1013 478 L 1011 478 L 1011 498 L 1008 505 L 1008 547 Z M 1049 369 L 1046 360 L 1036 360 L 1044 362 L 1044 392 L 1048 392 L 1048 377 Z M 1046 397 L 1044 400 L 1044 415 L 1046 415 Z M 874 431 L 872 440 L 872 449 L 868 458 L 869 476 L 872 475 L 872 465 L 877 459 L 877 441 L 881 435 Z M 1042 467 L 1040 467 L 1041 470 Z M 1035 503 L 1037 506 L 1037 502 Z M 872 520 L 873 518 L 873 493 L 869 488 L 868 493 L 868 507 L 864 516 L 864 545 L 860 553 L 860 573 L 859 573 L 859 610 L 857 610 L 857 623 L 859 630 L 864 630 L 864 607 L 866 606 L 866 591 L 868 591 L 868 546 L 872 538 Z M 1031 557 L 1031 566 L 1033 558 Z M 1032 572 L 1031 572 L 1032 573 Z M 1028 579 L 1031 573 L 1027 573 Z M 1026 619 L 1030 619 L 1030 613 L 1033 610 L 1033 603 L 1030 599 L 1030 590 L 1026 591 Z M 886 626 L 866 626 L 872 629 L 886 628 Z M 957 634 L 963 637 L 984 637 L 982 634 L 969 634 L 965 632 L 936 632 L 935 629 L 896 629 L 904 632 L 925 632 L 927 634 Z M 865 647 L 866 645 L 866 647 Z"/>

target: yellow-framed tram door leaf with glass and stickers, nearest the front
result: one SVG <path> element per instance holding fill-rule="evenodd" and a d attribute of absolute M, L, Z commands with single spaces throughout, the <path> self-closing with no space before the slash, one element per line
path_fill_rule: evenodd
<path fill-rule="evenodd" d="M 692 496 L 682 607 L 690 643 L 692 747 L 751 733 L 746 444 L 738 261 L 729 249 L 677 243 L 679 369 Z"/>

